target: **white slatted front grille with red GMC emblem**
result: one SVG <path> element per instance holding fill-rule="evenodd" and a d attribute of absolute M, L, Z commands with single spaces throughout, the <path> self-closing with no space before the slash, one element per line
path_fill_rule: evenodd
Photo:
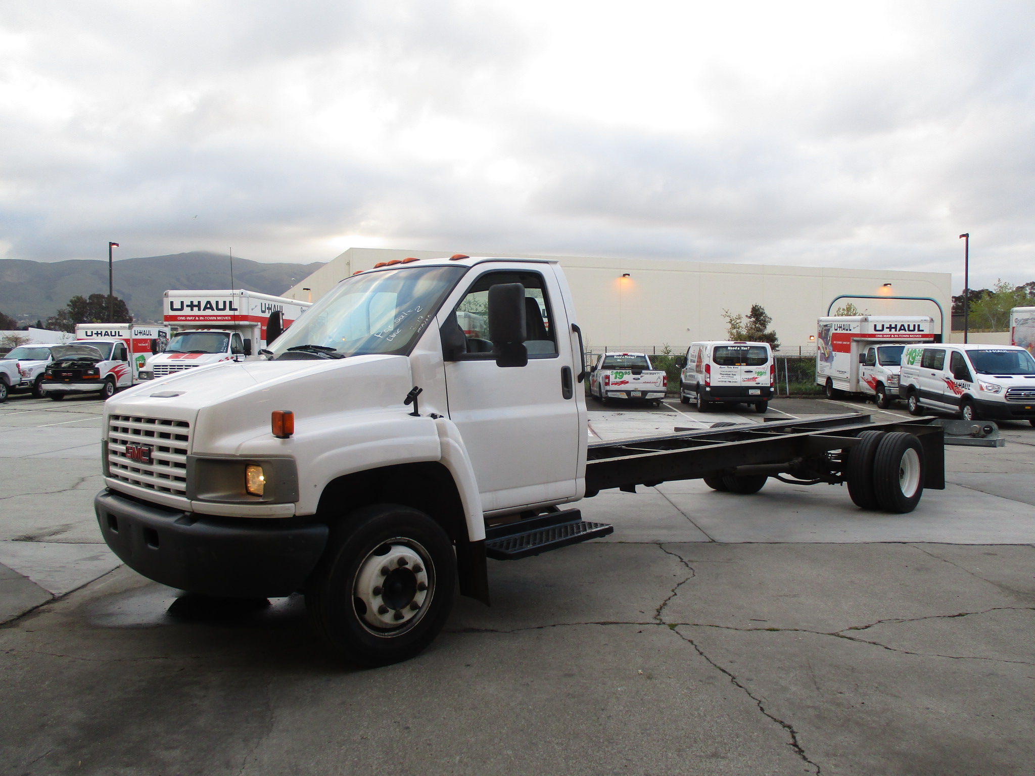
<path fill-rule="evenodd" d="M 185 420 L 108 417 L 108 468 L 112 478 L 130 485 L 186 496 L 189 444 L 190 424 Z M 127 457 L 126 445 L 151 446 L 151 462 Z"/>

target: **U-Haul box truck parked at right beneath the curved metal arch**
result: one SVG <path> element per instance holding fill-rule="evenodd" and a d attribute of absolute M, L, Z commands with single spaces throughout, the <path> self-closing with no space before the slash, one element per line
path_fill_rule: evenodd
<path fill-rule="evenodd" d="M 887 407 L 898 393 L 903 347 L 934 342 L 936 337 L 935 319 L 929 316 L 821 318 L 816 336 L 816 383 L 824 387 L 827 398 L 838 391 L 863 393 Z"/>

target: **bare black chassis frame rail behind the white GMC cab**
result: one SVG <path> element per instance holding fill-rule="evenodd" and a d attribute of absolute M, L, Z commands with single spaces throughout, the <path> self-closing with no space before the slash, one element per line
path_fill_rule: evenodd
<path fill-rule="evenodd" d="M 743 466 L 789 464 L 795 458 L 858 444 L 862 431 L 906 431 L 923 446 L 923 486 L 945 488 L 944 431 L 936 418 L 874 421 L 870 415 L 829 415 L 750 425 L 704 428 L 662 437 L 597 442 L 589 446 L 586 497 L 619 487 L 692 480 Z"/>

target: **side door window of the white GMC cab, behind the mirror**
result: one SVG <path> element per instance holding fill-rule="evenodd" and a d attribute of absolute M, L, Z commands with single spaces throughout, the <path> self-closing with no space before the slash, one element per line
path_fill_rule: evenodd
<path fill-rule="evenodd" d="M 464 332 L 468 358 L 494 358 L 489 335 L 489 290 L 500 283 L 520 282 L 525 287 L 525 349 L 529 358 L 556 358 L 557 334 L 554 330 L 550 297 L 538 272 L 508 270 L 487 272 L 472 283 L 456 305 L 452 317 Z M 447 322 L 446 326 L 451 325 Z"/>

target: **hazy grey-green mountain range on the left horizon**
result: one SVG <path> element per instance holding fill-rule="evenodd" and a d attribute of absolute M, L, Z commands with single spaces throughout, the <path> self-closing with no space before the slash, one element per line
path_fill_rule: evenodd
<path fill-rule="evenodd" d="M 234 259 L 234 287 L 279 295 L 323 266 L 265 264 Z M 194 291 L 230 288 L 230 257 L 194 250 L 189 253 L 120 259 L 114 264 L 115 295 L 139 323 L 161 321 L 161 295 L 171 289 Z M 108 262 L 77 259 L 32 262 L 0 259 L 0 311 L 22 325 L 35 324 L 64 307 L 76 296 L 108 293 Z"/>

